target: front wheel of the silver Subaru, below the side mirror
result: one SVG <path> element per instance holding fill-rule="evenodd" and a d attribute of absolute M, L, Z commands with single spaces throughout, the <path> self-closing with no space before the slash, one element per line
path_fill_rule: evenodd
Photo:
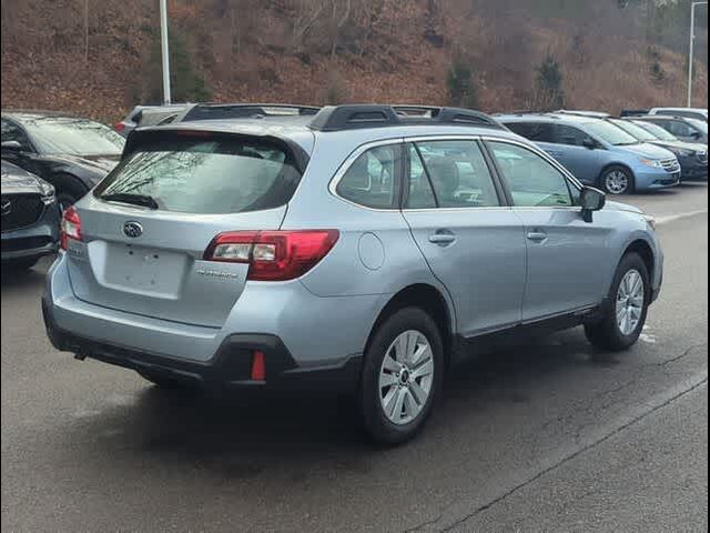
<path fill-rule="evenodd" d="M 628 283 L 636 286 L 637 274 L 643 285 L 638 298 L 631 292 L 631 298 L 627 299 L 623 294 L 629 292 Z M 646 263 L 637 253 L 626 254 L 617 269 L 604 316 L 600 321 L 585 326 L 587 339 L 596 348 L 608 352 L 630 349 L 643 331 L 650 300 L 651 281 Z M 621 301 L 626 303 L 622 304 Z"/>

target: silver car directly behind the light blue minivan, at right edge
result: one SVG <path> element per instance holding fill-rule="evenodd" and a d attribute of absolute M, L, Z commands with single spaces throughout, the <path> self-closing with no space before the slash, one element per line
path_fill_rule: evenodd
<path fill-rule="evenodd" d="M 658 128 L 666 135 L 670 135 L 668 139 L 666 135 L 659 132 L 653 132 L 642 125 L 645 122 L 632 121 L 628 119 L 609 119 L 609 122 L 618 125 L 630 135 L 633 135 L 639 142 L 648 142 L 649 144 L 656 144 L 657 147 L 665 148 L 676 154 L 680 162 L 682 172 L 682 180 L 707 180 L 708 179 L 708 148 L 700 144 L 691 144 L 674 139 L 662 128 L 657 127 L 650 122 L 646 122 L 648 127 Z"/>

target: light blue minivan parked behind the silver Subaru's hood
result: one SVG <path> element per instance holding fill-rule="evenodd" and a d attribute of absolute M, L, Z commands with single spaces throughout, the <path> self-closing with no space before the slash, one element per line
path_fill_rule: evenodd
<path fill-rule="evenodd" d="M 605 119 L 567 112 L 499 120 L 536 142 L 582 183 L 600 187 L 609 194 L 666 189 L 680 182 L 676 155 L 640 143 Z"/>

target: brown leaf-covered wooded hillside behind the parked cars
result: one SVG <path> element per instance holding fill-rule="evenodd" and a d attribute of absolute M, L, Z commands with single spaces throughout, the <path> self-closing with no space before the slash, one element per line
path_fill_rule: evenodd
<path fill-rule="evenodd" d="M 641 26 L 661 20 L 655 4 L 520 3 L 171 0 L 175 100 L 445 104 L 460 100 L 452 94 L 457 66 L 473 88 L 465 103 L 530 109 L 539 101 L 538 68 L 552 57 L 567 107 L 683 103 L 687 60 L 674 43 L 688 30 L 666 27 L 668 39 Z M 3 0 L 2 107 L 116 120 L 160 94 L 156 34 L 154 0 Z M 707 51 L 707 23 L 700 37 Z M 704 105 L 706 64 L 697 79 Z"/>

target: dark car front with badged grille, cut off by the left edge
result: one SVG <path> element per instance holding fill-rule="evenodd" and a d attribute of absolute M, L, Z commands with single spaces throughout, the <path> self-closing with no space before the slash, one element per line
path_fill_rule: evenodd
<path fill-rule="evenodd" d="M 54 253 L 60 212 L 54 188 L 12 163 L 2 161 L 2 265 L 31 269 Z"/>

